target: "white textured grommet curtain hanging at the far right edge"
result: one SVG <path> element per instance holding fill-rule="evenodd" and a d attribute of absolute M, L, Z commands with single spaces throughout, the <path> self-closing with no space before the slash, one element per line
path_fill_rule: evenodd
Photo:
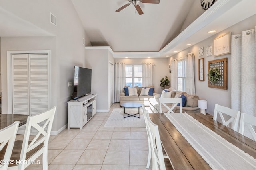
<path fill-rule="evenodd" d="M 231 107 L 256 116 L 256 43 L 255 29 L 232 35 Z M 244 135 L 253 139 L 245 126 Z"/>

